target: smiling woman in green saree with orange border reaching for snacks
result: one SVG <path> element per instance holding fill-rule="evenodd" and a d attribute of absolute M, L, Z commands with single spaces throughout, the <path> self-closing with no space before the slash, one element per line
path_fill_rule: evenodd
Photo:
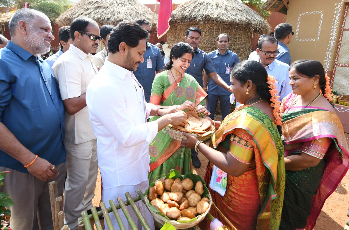
<path fill-rule="evenodd" d="M 194 110 L 209 115 L 205 105 L 207 93 L 199 83 L 184 71 L 194 56 L 193 48 L 184 42 L 172 46 L 170 62 L 165 71 L 156 74 L 150 94 L 150 103 L 170 106 L 177 110 Z M 157 120 L 154 116 L 150 121 Z M 192 172 L 191 150 L 180 147 L 180 141 L 172 139 L 166 129 L 158 132 L 149 144 L 150 173 L 149 182 L 164 177 L 171 169 L 181 174 Z"/>

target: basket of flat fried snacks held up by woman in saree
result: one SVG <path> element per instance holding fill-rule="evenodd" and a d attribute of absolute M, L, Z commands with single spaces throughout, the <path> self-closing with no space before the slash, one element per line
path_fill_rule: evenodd
<path fill-rule="evenodd" d="M 187 138 L 182 132 L 187 132 L 196 137 L 199 141 L 206 141 L 216 131 L 211 121 L 205 117 L 200 117 L 194 111 L 188 111 L 187 115 L 187 124 L 184 126 L 172 124 L 166 126 L 167 133 L 170 137 L 178 141 L 184 141 Z"/>

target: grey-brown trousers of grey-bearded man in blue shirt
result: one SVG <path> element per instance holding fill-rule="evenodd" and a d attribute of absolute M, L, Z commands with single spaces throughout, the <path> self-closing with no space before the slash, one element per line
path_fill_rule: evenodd
<path fill-rule="evenodd" d="M 12 229 L 53 229 L 49 182 L 57 181 L 58 196 L 62 196 L 67 172 L 66 163 L 56 165 L 56 168 L 59 174 L 54 179 L 42 181 L 30 173 L 0 167 L 0 172 L 10 171 L 3 180 L 4 186 L 0 186 L 0 192 L 8 193 L 15 203 L 8 207 Z"/>

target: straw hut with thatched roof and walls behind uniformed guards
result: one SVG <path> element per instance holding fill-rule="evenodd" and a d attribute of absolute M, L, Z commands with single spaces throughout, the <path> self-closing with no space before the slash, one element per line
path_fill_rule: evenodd
<path fill-rule="evenodd" d="M 252 36 L 267 34 L 269 23 L 239 0 L 190 0 L 172 12 L 167 43 L 170 47 L 184 41 L 185 31 L 192 26 L 201 30 L 199 48 L 205 52 L 217 49 L 216 39 L 221 33 L 230 38 L 229 50 L 240 60 L 250 54 Z"/>

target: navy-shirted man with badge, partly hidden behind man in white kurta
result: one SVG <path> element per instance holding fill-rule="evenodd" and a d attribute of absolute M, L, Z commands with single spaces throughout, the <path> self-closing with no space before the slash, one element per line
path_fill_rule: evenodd
<path fill-rule="evenodd" d="M 150 22 L 145 19 L 138 19 L 135 23 L 141 25 L 145 30 L 148 31 L 149 37 L 151 35 Z M 147 50 L 143 54 L 144 62 L 140 63 L 137 70 L 133 72 L 139 83 L 144 88 L 144 96 L 146 102 L 150 100 L 151 85 L 155 78 L 155 74 L 160 73 L 164 70 L 164 60 L 162 59 L 159 48 L 147 41 Z"/>

